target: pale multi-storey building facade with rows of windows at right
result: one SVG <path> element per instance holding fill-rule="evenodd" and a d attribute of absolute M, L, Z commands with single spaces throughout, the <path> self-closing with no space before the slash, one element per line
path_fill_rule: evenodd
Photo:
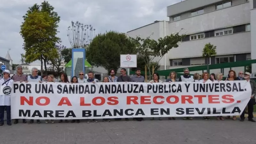
<path fill-rule="evenodd" d="M 207 64 L 207 60 L 202 57 L 202 50 L 207 43 L 217 46 L 217 56 L 210 58 L 210 64 L 255 59 L 255 8 L 256 0 L 185 0 L 168 6 L 169 22 L 165 28 L 166 35 L 179 31 L 187 35 L 178 48 L 173 48 L 166 54 L 168 69 Z M 157 23 L 161 25 L 161 21 Z M 164 30 L 161 31 L 156 26 L 153 29 L 156 23 L 150 25 L 152 26 L 127 33 L 142 36 L 146 31 L 151 33 L 158 30 L 155 33 L 163 37 Z M 164 65 L 163 61 L 160 62 Z M 232 69 L 236 72 L 244 71 L 244 67 Z M 228 70 L 229 68 L 224 69 L 225 75 Z M 220 72 L 220 69 L 210 71 L 210 73 L 217 72 Z M 252 72 L 256 73 L 255 65 L 252 66 Z"/>

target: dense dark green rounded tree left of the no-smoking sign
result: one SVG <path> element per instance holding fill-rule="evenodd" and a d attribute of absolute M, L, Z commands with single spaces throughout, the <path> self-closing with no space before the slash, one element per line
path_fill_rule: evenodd
<path fill-rule="evenodd" d="M 95 36 L 86 51 L 86 59 L 93 66 L 117 71 L 120 54 L 136 54 L 136 45 L 124 33 L 109 31 Z"/>

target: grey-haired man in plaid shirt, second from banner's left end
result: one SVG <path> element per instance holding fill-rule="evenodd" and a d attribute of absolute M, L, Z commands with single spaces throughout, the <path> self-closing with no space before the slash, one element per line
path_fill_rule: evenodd
<path fill-rule="evenodd" d="M 17 71 L 17 74 L 13 75 L 12 80 L 14 82 L 20 82 L 20 83 L 26 82 L 27 83 L 28 77 L 26 75 L 23 75 L 22 66 L 17 66 L 16 71 Z M 15 119 L 13 124 L 18 124 L 18 123 L 19 123 L 19 119 Z M 22 119 L 22 123 L 26 124 L 27 123 L 26 119 Z"/>

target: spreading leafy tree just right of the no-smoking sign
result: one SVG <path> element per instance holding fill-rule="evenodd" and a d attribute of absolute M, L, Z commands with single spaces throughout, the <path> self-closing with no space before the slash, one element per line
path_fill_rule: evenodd
<path fill-rule="evenodd" d="M 151 35 L 153 35 L 153 33 Z M 179 35 L 179 33 L 173 33 L 169 36 L 165 36 L 164 38 L 161 37 L 157 41 L 151 39 L 150 36 L 148 36 L 146 39 L 142 39 L 138 36 L 136 38 L 132 38 L 133 41 L 136 43 L 138 57 L 143 58 L 145 65 L 148 68 L 149 77 L 151 77 L 151 67 L 154 65 L 154 67 L 156 68 L 157 64 L 159 64 L 159 61 L 164 57 L 167 52 L 169 52 L 172 48 L 177 48 L 179 46 L 181 38 L 183 38 L 184 35 Z M 158 61 L 155 61 L 155 63 L 153 64 L 152 61 L 156 57 L 160 57 L 160 59 Z"/>

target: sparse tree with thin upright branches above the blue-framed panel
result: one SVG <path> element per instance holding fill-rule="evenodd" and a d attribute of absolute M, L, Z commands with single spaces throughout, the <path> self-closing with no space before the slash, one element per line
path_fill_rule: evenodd
<path fill-rule="evenodd" d="M 90 44 L 93 37 L 95 37 L 95 30 L 92 25 L 71 21 L 71 26 L 67 30 L 67 36 L 72 48 L 84 48 L 85 45 Z"/>

